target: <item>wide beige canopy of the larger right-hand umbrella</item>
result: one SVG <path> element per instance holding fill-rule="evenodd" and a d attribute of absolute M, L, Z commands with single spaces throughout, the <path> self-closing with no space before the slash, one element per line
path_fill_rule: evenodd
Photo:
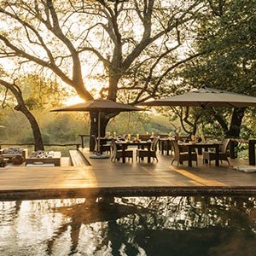
<path fill-rule="evenodd" d="M 229 107 L 243 108 L 256 106 L 256 97 L 225 90 L 202 87 L 182 95 L 140 103 L 141 106 L 181 106 L 181 107 Z"/>

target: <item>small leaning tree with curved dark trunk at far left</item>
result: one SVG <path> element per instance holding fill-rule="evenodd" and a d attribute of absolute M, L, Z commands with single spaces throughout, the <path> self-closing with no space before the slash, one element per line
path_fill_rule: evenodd
<path fill-rule="evenodd" d="M 4 79 L 2 79 L 3 77 Z M 63 99 L 67 96 L 67 92 L 59 92 L 59 84 L 36 74 L 28 73 L 12 82 L 8 79 L 6 73 L 1 73 L 0 84 L 4 88 L 4 96 L 1 98 L 3 108 L 8 105 L 9 108 L 14 108 L 26 116 L 32 128 L 35 150 L 44 150 L 44 142 L 35 112 L 42 112 L 44 108 L 49 108 L 60 98 Z M 9 95 L 9 91 L 15 96 L 15 99 Z"/>

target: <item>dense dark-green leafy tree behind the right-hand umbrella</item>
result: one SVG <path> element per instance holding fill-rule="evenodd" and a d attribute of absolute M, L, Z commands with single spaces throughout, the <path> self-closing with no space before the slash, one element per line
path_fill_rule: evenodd
<path fill-rule="evenodd" d="M 208 18 L 200 21 L 195 40 L 196 51 L 206 54 L 188 62 L 178 75 L 183 77 L 184 84 L 195 88 L 205 85 L 256 96 L 255 0 L 207 3 Z M 209 123 L 217 121 L 226 137 L 240 137 L 245 111 L 246 108 L 234 108 L 230 113 L 230 109 L 212 108 L 205 119 Z"/>

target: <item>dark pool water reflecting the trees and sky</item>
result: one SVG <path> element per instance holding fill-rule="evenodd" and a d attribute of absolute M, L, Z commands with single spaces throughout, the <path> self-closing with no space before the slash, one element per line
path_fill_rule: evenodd
<path fill-rule="evenodd" d="M 252 196 L 0 202 L 0 255 L 255 255 Z"/>

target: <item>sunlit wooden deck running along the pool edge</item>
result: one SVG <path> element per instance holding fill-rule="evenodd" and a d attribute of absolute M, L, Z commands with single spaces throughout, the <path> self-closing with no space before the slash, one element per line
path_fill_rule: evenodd
<path fill-rule="evenodd" d="M 233 166 L 247 161 L 231 160 L 219 167 L 202 164 L 188 167 L 171 166 L 172 156 L 158 154 L 159 162 L 125 164 L 110 159 L 90 159 L 91 166 L 71 166 L 69 158 L 61 158 L 61 166 L 0 168 L 2 200 L 66 198 L 111 195 L 170 195 L 196 193 L 249 193 L 256 195 L 256 172 L 246 173 Z"/>

